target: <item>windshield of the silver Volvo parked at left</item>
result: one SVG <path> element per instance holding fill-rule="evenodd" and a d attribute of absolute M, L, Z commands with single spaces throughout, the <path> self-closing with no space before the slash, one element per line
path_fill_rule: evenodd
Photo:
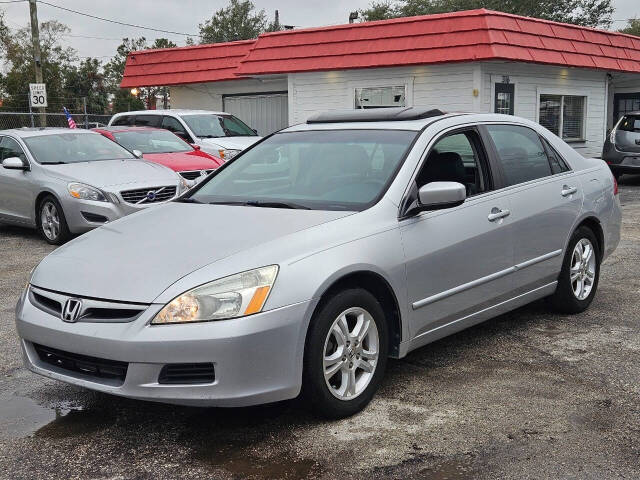
<path fill-rule="evenodd" d="M 28 137 L 24 143 L 43 165 L 135 158 L 130 152 L 98 133 L 58 133 Z"/>

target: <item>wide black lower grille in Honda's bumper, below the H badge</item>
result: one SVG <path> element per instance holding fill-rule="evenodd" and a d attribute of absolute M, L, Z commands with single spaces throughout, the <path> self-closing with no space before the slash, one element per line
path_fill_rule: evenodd
<path fill-rule="evenodd" d="M 33 348 L 42 362 L 69 372 L 81 373 L 95 378 L 118 380 L 120 383 L 124 383 L 127 376 L 129 364 L 126 362 L 64 352 L 36 343 L 33 344 Z"/>

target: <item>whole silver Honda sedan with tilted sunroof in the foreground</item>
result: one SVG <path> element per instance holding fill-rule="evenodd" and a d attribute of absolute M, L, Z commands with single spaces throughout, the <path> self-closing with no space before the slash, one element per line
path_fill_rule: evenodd
<path fill-rule="evenodd" d="M 16 311 L 27 367 L 115 395 L 362 409 L 388 357 L 540 298 L 578 313 L 617 185 L 528 120 L 334 112 L 59 248 Z"/>

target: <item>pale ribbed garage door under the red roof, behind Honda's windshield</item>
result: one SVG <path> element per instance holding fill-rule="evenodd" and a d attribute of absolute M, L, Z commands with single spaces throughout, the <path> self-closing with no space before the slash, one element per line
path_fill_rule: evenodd
<path fill-rule="evenodd" d="M 288 100 L 287 92 L 225 95 L 223 108 L 264 136 L 288 125 Z"/>

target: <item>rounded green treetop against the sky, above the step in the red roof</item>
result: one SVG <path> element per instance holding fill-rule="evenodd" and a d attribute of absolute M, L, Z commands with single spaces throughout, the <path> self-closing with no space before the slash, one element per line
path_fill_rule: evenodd
<path fill-rule="evenodd" d="M 255 11 L 251 0 L 230 0 L 226 8 L 199 25 L 200 43 L 232 42 L 256 38 L 267 28 L 264 10 Z"/>

